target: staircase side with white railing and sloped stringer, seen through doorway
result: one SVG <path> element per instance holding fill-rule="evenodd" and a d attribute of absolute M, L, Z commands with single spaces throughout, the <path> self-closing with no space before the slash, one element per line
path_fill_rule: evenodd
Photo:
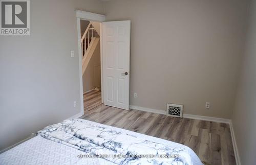
<path fill-rule="evenodd" d="M 90 21 L 86 31 L 83 33 L 81 37 L 80 44 L 82 51 L 82 75 L 84 74 L 84 72 L 86 72 L 86 68 L 100 40 L 99 37 L 95 35 L 95 32 L 98 32 L 98 29 L 95 29 L 93 24 L 94 23 Z"/>

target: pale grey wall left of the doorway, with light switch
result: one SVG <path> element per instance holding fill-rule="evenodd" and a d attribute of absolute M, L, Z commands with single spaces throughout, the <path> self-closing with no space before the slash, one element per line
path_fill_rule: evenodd
<path fill-rule="evenodd" d="M 33 0 L 30 36 L 0 36 L 0 150 L 80 111 L 74 9 L 103 12 L 98 0 Z"/>

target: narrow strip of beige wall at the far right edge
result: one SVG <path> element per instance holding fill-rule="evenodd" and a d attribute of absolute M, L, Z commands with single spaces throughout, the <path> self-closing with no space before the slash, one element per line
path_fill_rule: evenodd
<path fill-rule="evenodd" d="M 256 1 L 251 1 L 243 65 L 232 123 L 241 164 L 255 164 L 256 157 Z"/>

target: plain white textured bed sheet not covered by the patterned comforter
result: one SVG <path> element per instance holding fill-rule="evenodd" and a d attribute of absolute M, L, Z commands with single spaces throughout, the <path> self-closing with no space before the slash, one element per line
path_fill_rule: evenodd
<path fill-rule="evenodd" d="M 0 164 L 114 164 L 105 159 L 77 158 L 80 154 L 84 152 L 41 136 L 35 136 L 2 153 Z"/>

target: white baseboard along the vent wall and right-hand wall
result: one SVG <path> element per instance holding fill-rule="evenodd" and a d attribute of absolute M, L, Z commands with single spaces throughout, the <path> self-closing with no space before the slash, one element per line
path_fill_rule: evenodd
<path fill-rule="evenodd" d="M 136 110 L 158 113 L 158 114 L 166 114 L 165 110 L 145 108 L 145 107 L 139 107 L 139 106 L 134 106 L 134 105 L 130 105 L 130 109 L 136 109 Z M 194 115 L 194 114 L 183 114 L 183 117 L 187 118 L 187 119 L 196 119 L 196 120 L 203 120 L 203 121 L 209 121 L 209 122 L 218 122 L 218 123 L 227 123 L 227 124 L 229 124 L 231 138 L 232 138 L 232 144 L 233 144 L 233 149 L 234 149 L 234 156 L 236 158 L 237 165 L 241 165 L 240 157 L 239 157 L 239 153 L 238 153 L 237 142 L 236 142 L 236 137 L 234 136 L 233 125 L 232 125 L 232 121 L 230 119 L 223 119 L 223 118 L 209 117 L 209 116 L 201 116 L 201 115 Z"/>

